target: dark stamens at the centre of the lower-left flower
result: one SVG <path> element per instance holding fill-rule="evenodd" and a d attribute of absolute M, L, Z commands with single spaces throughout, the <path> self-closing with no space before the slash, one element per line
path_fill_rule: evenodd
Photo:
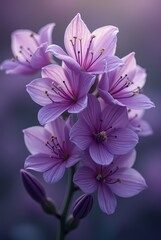
<path fill-rule="evenodd" d="M 62 141 L 62 145 L 59 144 L 57 137 L 51 136 L 49 141 L 46 141 L 45 145 L 51 150 L 52 158 L 61 158 L 63 161 L 67 160 L 69 155 L 65 152 L 65 141 Z"/>

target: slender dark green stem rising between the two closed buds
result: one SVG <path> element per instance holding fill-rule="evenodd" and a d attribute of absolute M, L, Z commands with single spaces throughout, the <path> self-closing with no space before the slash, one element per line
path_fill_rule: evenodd
<path fill-rule="evenodd" d="M 73 175 L 75 172 L 75 167 L 72 167 L 69 169 L 69 176 L 68 176 L 68 190 L 66 194 L 65 201 L 63 203 L 63 209 L 60 217 L 60 226 L 59 226 L 59 232 L 57 236 L 57 240 L 64 240 L 65 239 L 65 228 L 66 228 L 66 219 L 67 219 L 67 213 L 70 206 L 70 202 L 72 200 L 72 196 L 74 193 L 74 183 L 73 183 Z"/>

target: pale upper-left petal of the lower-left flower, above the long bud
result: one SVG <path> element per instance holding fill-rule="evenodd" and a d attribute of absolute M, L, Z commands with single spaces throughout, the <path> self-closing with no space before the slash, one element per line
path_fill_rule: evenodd
<path fill-rule="evenodd" d="M 51 138 L 50 133 L 43 127 L 30 127 L 23 130 L 26 147 L 31 154 L 46 153 L 50 151 L 46 147 L 46 141 Z"/>

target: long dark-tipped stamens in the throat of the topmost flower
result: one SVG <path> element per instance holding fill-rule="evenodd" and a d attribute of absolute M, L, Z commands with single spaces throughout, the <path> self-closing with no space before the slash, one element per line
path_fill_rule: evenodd
<path fill-rule="evenodd" d="M 93 41 L 95 38 L 95 35 L 91 35 L 91 39 L 85 50 L 84 46 L 82 45 L 81 38 L 73 36 L 73 39 L 70 39 L 75 59 L 80 64 L 82 69 L 86 71 L 90 69 L 90 67 L 102 56 L 103 52 L 105 51 L 104 48 L 101 48 L 97 54 L 94 53 Z"/>

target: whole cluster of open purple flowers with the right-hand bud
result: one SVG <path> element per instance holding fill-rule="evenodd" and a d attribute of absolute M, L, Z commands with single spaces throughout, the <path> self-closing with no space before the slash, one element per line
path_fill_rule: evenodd
<path fill-rule="evenodd" d="M 152 133 L 143 120 L 145 110 L 154 107 L 143 94 L 146 72 L 133 52 L 123 58 L 115 55 L 117 27 L 91 33 L 77 14 L 65 31 L 65 51 L 52 44 L 53 27 L 48 24 L 38 34 L 15 31 L 14 57 L 1 64 L 6 73 L 41 70 L 41 77 L 26 86 L 41 106 L 38 120 L 43 126 L 23 131 L 31 153 L 25 169 L 42 172 L 46 182 L 55 183 L 74 166 L 75 188 L 90 194 L 76 202 L 74 215 L 87 215 L 95 191 L 101 210 L 112 214 L 114 194 L 131 197 L 147 186 L 132 168 L 139 137 Z M 90 206 L 87 212 L 85 206 Z"/>

